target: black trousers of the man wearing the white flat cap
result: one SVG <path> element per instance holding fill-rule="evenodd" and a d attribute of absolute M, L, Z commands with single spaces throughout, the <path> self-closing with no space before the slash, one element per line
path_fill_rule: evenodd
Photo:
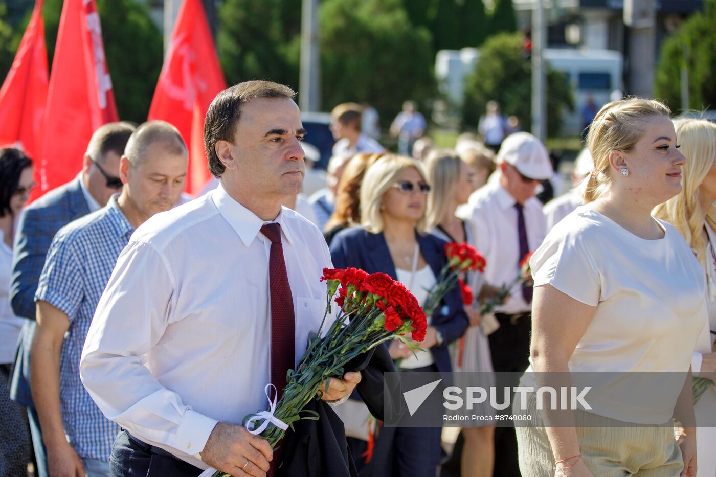
<path fill-rule="evenodd" d="M 529 365 L 531 316 L 495 313 L 500 327 L 490 334 L 490 354 L 495 371 L 524 372 Z M 516 386 L 518 382 L 498 383 Z M 509 412 L 509 410 L 507 410 Z M 520 477 L 515 428 L 495 428 L 494 476 Z"/>

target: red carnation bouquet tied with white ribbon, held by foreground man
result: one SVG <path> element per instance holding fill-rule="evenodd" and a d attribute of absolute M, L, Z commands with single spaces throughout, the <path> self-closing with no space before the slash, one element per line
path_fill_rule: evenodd
<path fill-rule="evenodd" d="M 321 281 L 327 282 L 328 289 L 324 322 L 332 302 L 339 307 L 333 323 L 325 337 L 321 338 L 324 322 L 318 333 L 309 336 L 308 347 L 296 370 L 289 370 L 288 384 L 278 405 L 274 400 L 271 410 L 243 419 L 243 425 L 269 440 L 271 448 L 276 447 L 286 429 L 292 428 L 297 420 L 318 418 L 316 413 L 304 411 L 304 406 L 320 397 L 319 389 L 324 384 L 327 389 L 332 377 L 353 371 L 344 370 L 351 360 L 407 333 L 415 341 L 425 339 L 425 312 L 399 281 L 386 274 L 367 274 L 353 268 L 324 269 Z M 257 427 L 258 422 L 261 425 Z M 228 474 L 218 471 L 213 476 Z"/>

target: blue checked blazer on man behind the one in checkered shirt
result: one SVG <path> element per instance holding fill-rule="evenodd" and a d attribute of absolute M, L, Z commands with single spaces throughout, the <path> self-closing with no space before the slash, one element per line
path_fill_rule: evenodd
<path fill-rule="evenodd" d="M 60 228 L 89 213 L 79 178 L 50 191 L 22 211 L 15 234 L 10 304 L 22 327 L 15 357 L 10 397 L 32 407 L 30 347 L 35 333 L 35 291 L 52 238 Z"/>

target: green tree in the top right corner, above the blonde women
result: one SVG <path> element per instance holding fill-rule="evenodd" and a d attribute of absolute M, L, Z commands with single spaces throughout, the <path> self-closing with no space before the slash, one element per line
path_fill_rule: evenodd
<path fill-rule="evenodd" d="M 666 100 L 676 112 L 682 109 L 681 72 L 689 75 L 689 105 L 692 110 L 716 107 L 716 1 L 708 0 L 705 11 L 694 14 L 664 40 L 654 80 L 656 97 Z"/>

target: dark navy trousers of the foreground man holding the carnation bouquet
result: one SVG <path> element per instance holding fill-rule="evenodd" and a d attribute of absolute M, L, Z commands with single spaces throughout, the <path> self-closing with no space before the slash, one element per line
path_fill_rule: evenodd
<path fill-rule="evenodd" d="M 120 430 L 110 455 L 112 477 L 198 477 L 201 469 Z"/>

